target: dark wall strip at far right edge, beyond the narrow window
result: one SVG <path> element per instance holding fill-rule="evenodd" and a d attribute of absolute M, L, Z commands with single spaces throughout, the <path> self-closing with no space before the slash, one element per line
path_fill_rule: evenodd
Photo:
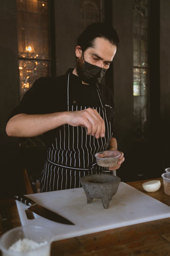
<path fill-rule="evenodd" d="M 160 1 L 160 124 L 163 168 L 170 166 L 170 2 Z"/>

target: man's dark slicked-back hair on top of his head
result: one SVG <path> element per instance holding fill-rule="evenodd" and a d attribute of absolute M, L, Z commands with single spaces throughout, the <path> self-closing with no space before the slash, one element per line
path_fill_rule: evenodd
<path fill-rule="evenodd" d="M 111 44 L 119 46 L 116 30 L 112 26 L 100 22 L 90 24 L 78 37 L 77 45 L 80 45 L 85 51 L 88 47 L 94 47 L 94 39 L 97 37 L 104 38 Z"/>

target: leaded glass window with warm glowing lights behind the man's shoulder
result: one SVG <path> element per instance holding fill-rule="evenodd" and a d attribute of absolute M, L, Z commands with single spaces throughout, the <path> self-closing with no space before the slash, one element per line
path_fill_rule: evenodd
<path fill-rule="evenodd" d="M 19 97 L 40 76 L 50 75 L 48 1 L 17 0 Z"/>

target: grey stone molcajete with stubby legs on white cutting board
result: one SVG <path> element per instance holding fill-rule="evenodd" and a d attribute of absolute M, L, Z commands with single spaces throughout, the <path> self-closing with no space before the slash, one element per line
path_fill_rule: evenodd
<path fill-rule="evenodd" d="M 100 198 L 106 209 L 120 184 L 119 177 L 109 174 L 87 175 L 80 181 L 87 196 L 87 203 L 91 203 L 94 198 Z"/>

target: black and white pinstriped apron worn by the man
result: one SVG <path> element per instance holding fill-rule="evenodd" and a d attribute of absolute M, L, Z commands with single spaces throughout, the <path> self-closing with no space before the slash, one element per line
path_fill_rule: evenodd
<path fill-rule="evenodd" d="M 109 141 L 113 135 L 100 89 L 96 84 L 101 107 L 70 105 L 69 75 L 67 82 L 68 111 L 78 111 L 89 107 L 96 109 L 105 122 L 105 137 L 96 139 L 91 134 L 87 135 L 87 129 L 84 127 L 62 125 L 52 146 L 48 148 L 48 157 L 41 180 L 41 192 L 81 187 L 80 178 L 85 175 L 113 174 L 108 168 L 97 166 L 95 158 L 97 152 L 108 150 Z"/>

